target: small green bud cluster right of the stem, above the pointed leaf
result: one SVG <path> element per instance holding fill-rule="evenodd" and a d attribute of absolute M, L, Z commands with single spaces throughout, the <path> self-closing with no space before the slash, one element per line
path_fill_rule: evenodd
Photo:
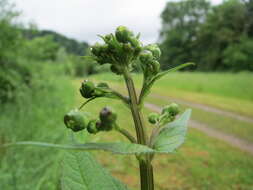
<path fill-rule="evenodd" d="M 179 106 L 176 103 L 172 103 L 163 107 L 160 114 L 150 113 L 148 116 L 148 121 L 151 124 L 163 125 L 164 123 L 174 121 L 177 114 L 179 114 Z"/>

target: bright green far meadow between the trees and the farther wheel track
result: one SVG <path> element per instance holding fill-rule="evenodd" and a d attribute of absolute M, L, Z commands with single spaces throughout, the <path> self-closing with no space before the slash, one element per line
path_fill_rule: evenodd
<path fill-rule="evenodd" d="M 94 76 L 97 80 L 122 83 L 109 73 Z M 135 75 L 137 87 L 141 76 Z M 253 117 L 252 73 L 170 73 L 153 88 L 156 94 L 205 104 Z"/>

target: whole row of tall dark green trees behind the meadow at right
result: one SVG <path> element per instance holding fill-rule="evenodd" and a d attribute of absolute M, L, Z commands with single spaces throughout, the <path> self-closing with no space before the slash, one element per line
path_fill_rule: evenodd
<path fill-rule="evenodd" d="M 168 2 L 161 14 L 162 68 L 253 71 L 253 0 Z"/>

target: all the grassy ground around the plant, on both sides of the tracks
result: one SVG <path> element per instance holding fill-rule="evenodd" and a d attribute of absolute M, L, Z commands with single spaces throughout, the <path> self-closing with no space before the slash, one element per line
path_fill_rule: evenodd
<path fill-rule="evenodd" d="M 121 85 L 122 79 L 115 75 L 100 74 L 89 78 L 93 81 L 106 80 L 113 88 L 122 89 L 122 92 L 125 92 Z M 153 90 L 154 94 L 150 95 L 147 101 L 162 106 L 171 102 L 170 98 L 173 97 L 201 104 L 204 98 L 210 98 L 212 102 L 207 102 L 206 105 L 233 111 L 240 115 L 245 113 L 244 115 L 250 117 L 253 107 L 233 110 L 228 108 L 227 103 L 229 102 L 230 106 L 235 106 L 235 108 L 238 104 L 243 105 L 246 102 L 252 105 L 253 89 L 250 86 L 253 80 L 251 79 L 253 79 L 251 73 L 171 73 L 157 83 Z M 18 105 L 1 108 L 4 110 L 4 114 L 0 116 L 1 143 L 5 143 L 5 139 L 64 144 L 73 140 L 78 142 L 126 141 L 116 132 L 101 132 L 96 136 L 81 132 L 71 136 L 71 132 L 64 127 L 63 115 L 85 101 L 78 92 L 82 80 L 68 77 L 49 80 L 52 83 L 51 93 L 45 90 L 44 93 L 42 91 Z M 140 87 L 140 76 L 136 75 L 135 80 Z M 187 84 L 183 85 L 185 82 Z M 225 84 L 226 88 L 224 88 Z M 200 88 L 201 91 L 199 91 Z M 240 91 L 244 92 L 241 98 Z M 189 97 L 190 94 L 195 96 Z M 168 96 L 168 100 L 157 98 L 155 95 Z M 197 97 L 204 98 L 199 100 Z M 228 102 L 220 105 L 219 101 L 222 99 L 227 99 Z M 96 117 L 100 109 L 108 105 L 117 110 L 119 123 L 133 133 L 133 122 L 131 120 L 126 122 L 126 118 L 130 118 L 129 110 L 116 100 L 99 99 L 89 103 L 83 111 L 88 111 Z M 181 110 L 186 107 L 181 105 Z M 150 110 L 146 108 L 144 114 L 148 113 Z M 252 123 L 196 108 L 193 108 L 193 119 L 207 123 L 224 133 L 253 141 L 250 135 L 253 129 Z M 1 149 L 0 189 L 60 189 L 61 161 L 64 152 L 31 146 Z M 134 156 L 117 156 L 103 151 L 94 152 L 94 155 L 114 176 L 129 184 L 131 189 L 138 189 L 138 164 Z M 175 154 L 155 157 L 154 168 L 155 186 L 158 190 L 251 190 L 253 187 L 251 154 L 193 128 L 189 128 L 185 144 Z"/>

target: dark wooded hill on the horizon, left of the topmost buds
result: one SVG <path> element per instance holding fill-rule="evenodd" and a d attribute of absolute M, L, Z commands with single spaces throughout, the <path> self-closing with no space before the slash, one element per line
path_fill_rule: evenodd
<path fill-rule="evenodd" d="M 42 37 L 51 35 L 53 40 L 64 47 L 68 53 L 82 56 L 85 54 L 86 49 L 89 47 L 89 44 L 86 42 L 79 42 L 75 39 L 68 38 L 62 34 L 59 34 L 50 30 L 24 30 L 23 34 L 28 39 L 33 39 L 35 37 Z"/>

